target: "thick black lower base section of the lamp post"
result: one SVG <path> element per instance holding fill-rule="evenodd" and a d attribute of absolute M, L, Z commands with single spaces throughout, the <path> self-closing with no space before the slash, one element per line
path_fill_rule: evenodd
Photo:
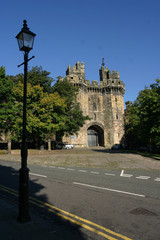
<path fill-rule="evenodd" d="M 19 214 L 18 221 L 21 223 L 29 222 L 29 169 L 19 170 Z"/>

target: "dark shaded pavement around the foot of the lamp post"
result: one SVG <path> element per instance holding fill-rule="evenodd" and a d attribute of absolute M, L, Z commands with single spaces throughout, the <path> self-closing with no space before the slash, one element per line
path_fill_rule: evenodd
<path fill-rule="evenodd" d="M 18 206 L 2 194 L 0 196 L 1 240 L 88 239 L 69 226 L 43 218 L 33 209 L 30 209 L 31 221 L 28 223 L 19 223 L 17 215 Z"/>

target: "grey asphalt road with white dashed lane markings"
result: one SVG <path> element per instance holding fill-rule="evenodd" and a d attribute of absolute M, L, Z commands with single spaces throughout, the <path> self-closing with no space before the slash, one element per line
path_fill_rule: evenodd
<path fill-rule="evenodd" d="M 0 165 L 1 185 L 17 190 L 19 164 L 0 161 Z M 39 165 L 29 165 L 29 169 L 34 198 L 73 214 L 78 222 L 82 218 L 85 224 L 90 221 L 113 231 L 107 238 L 82 226 L 86 239 L 160 239 L 158 171 Z"/>

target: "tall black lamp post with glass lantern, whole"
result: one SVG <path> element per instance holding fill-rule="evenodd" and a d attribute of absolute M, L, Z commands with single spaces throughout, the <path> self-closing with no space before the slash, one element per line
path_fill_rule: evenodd
<path fill-rule="evenodd" d="M 33 48 L 36 34 L 27 27 L 27 21 L 23 21 L 23 28 L 16 36 L 19 50 L 24 51 L 24 90 L 23 90 L 23 135 L 21 148 L 21 168 L 19 170 L 19 214 L 18 221 L 21 223 L 30 221 L 29 215 L 29 169 L 27 168 L 27 144 L 26 144 L 26 106 L 27 106 L 27 65 L 33 57 L 28 59 L 28 53 Z"/>

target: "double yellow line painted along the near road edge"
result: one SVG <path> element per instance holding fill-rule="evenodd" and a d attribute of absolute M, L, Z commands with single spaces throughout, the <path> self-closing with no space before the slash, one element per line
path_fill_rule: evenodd
<path fill-rule="evenodd" d="M 0 189 L 5 192 L 10 193 L 11 195 L 18 197 L 18 192 L 15 191 L 14 189 L 8 188 L 4 185 L 0 185 Z M 85 228 L 88 231 L 91 231 L 97 235 L 100 235 L 108 240 L 117 240 L 116 237 L 118 237 L 118 239 L 132 240 L 131 238 L 128 238 L 119 233 L 113 232 L 110 229 L 102 227 L 102 226 L 100 226 L 96 223 L 93 223 L 87 219 L 78 217 L 72 213 L 66 212 L 60 208 L 57 208 L 57 207 L 49 204 L 49 203 L 42 202 L 36 198 L 30 197 L 30 202 L 38 207 L 47 209 L 49 212 L 54 213 L 55 215 L 61 217 L 62 219 L 68 220 L 68 221 L 70 221 L 82 228 Z M 111 236 L 108 234 L 110 234 Z"/>

